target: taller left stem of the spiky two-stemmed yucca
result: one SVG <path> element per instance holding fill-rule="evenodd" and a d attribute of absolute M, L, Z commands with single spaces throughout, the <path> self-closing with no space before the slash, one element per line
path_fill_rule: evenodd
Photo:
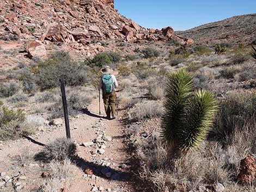
<path fill-rule="evenodd" d="M 194 89 L 192 78 L 191 73 L 180 69 L 170 74 L 167 79 L 161 136 L 169 145 L 169 150 L 178 143 L 182 122 L 186 119 L 188 98 Z"/>

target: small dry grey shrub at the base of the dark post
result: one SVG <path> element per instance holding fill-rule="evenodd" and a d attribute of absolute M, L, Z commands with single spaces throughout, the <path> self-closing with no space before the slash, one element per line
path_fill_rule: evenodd
<path fill-rule="evenodd" d="M 36 160 L 62 161 L 75 157 L 77 146 L 71 139 L 59 138 L 45 145 L 41 152 L 35 155 Z"/>

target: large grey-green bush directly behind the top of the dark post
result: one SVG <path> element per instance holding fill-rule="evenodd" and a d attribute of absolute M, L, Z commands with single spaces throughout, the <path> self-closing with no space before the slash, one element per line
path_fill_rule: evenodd
<path fill-rule="evenodd" d="M 87 82 L 87 72 L 83 66 L 73 61 L 68 53 L 56 52 L 39 63 L 36 83 L 41 90 L 56 88 L 59 79 L 64 78 L 65 84 L 78 86 Z"/>

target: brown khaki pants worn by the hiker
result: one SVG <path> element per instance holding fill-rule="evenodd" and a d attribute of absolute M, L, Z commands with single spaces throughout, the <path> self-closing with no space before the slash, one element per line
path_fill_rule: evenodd
<path fill-rule="evenodd" d="M 107 117 L 111 117 L 111 113 L 112 116 L 115 115 L 115 100 L 116 100 L 116 96 L 115 96 L 115 91 L 112 91 L 110 94 L 106 94 L 105 92 L 103 92 L 103 102 L 104 102 L 104 107 L 105 107 L 105 112 L 107 114 Z"/>

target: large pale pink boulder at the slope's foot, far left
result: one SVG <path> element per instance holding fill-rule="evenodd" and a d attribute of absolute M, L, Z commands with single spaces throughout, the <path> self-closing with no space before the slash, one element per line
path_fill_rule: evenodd
<path fill-rule="evenodd" d="M 29 40 L 25 44 L 25 49 L 28 52 L 28 57 L 44 58 L 47 54 L 45 45 L 38 40 Z"/>

